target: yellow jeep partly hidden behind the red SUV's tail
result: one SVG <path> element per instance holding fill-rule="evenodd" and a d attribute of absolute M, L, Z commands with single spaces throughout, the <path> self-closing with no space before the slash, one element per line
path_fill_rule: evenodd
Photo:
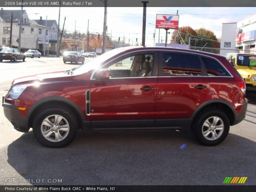
<path fill-rule="evenodd" d="M 256 55 L 227 53 L 226 58 L 244 78 L 246 91 L 256 92 Z"/>

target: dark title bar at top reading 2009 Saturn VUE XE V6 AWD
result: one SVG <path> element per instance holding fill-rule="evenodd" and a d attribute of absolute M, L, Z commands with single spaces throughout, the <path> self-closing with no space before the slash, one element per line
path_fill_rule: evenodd
<path fill-rule="evenodd" d="M 256 7 L 255 0 L 149 0 L 147 7 Z M 59 4 L 60 3 L 60 4 Z M 104 7 L 100 0 L 1 0 L 0 7 Z M 108 0 L 108 7 L 142 7 L 141 0 Z"/>

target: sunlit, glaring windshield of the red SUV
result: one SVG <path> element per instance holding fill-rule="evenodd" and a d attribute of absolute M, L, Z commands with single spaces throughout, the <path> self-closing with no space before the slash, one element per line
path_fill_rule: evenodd
<path fill-rule="evenodd" d="M 79 75 L 79 74 L 83 74 L 83 73 L 87 73 L 88 71 L 94 69 L 97 70 L 98 68 L 100 68 L 101 64 L 115 56 L 116 54 L 122 52 L 124 50 L 122 49 L 113 49 L 111 51 L 108 51 L 102 55 L 100 55 L 99 57 L 96 57 L 95 59 L 90 60 L 89 62 L 85 63 L 84 65 L 81 65 L 80 67 L 76 68 L 73 72 L 74 75 Z"/>

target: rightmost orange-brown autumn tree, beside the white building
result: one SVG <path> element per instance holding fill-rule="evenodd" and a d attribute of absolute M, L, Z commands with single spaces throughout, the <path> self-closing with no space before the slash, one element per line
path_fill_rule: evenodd
<path fill-rule="evenodd" d="M 196 43 L 197 47 L 203 47 L 206 44 L 206 47 L 220 47 L 220 42 L 218 42 L 218 38 L 214 35 L 214 33 L 208 29 L 200 28 L 196 29 L 196 34 L 198 37 L 203 37 L 205 39 L 198 40 Z M 214 41 L 206 40 L 211 39 Z"/>

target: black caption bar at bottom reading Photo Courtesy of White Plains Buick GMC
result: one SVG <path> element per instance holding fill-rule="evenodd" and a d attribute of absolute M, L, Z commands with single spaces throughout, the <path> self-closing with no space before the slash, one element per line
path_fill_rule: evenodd
<path fill-rule="evenodd" d="M 225 192 L 251 192 L 255 191 L 255 185 L 221 185 L 221 186 L 209 186 L 209 185 L 200 185 L 200 186 L 125 186 L 125 185 L 116 185 L 116 186 L 85 186 L 85 185 L 74 185 L 74 186 L 33 186 L 33 185 L 20 185 L 20 186 L 0 186 L 1 192 L 92 192 L 92 191 L 113 191 L 113 192 L 216 192 L 216 191 L 225 191 Z"/>

